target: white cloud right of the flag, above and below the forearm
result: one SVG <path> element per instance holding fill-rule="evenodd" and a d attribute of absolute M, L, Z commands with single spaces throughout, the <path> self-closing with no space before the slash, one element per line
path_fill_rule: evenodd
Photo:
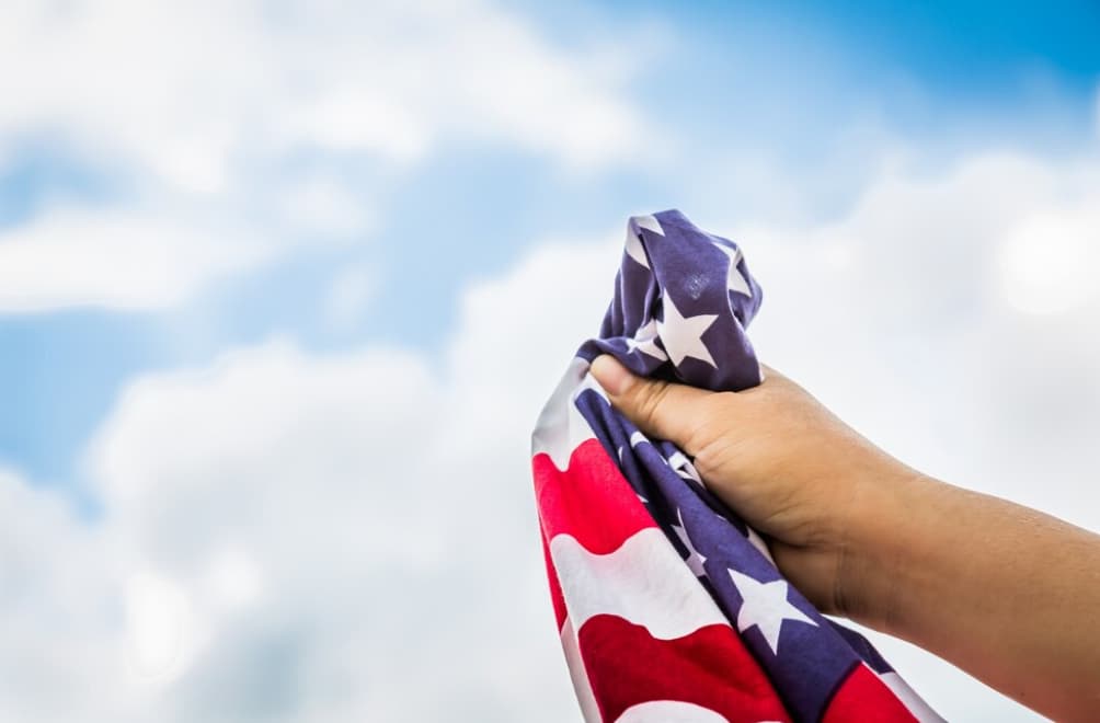
<path fill-rule="evenodd" d="M 833 223 L 729 224 L 765 286 L 757 349 L 905 462 L 1100 529 L 1100 160 L 917 167 L 889 164 Z M 1037 720 L 868 635 L 948 720 Z"/>

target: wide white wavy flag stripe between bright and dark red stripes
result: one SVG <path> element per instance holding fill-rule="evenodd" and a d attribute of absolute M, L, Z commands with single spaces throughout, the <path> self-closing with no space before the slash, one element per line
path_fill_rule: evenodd
<path fill-rule="evenodd" d="M 729 625 L 656 527 L 638 532 L 607 555 L 590 552 L 572 535 L 556 535 L 550 557 L 578 631 L 601 614 L 618 615 L 663 640 L 706 625 Z"/>

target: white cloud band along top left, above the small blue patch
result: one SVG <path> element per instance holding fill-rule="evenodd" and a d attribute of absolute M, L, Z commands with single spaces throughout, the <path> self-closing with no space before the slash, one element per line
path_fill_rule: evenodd
<path fill-rule="evenodd" d="M 301 150 L 410 162 L 451 133 L 598 166 L 651 130 L 602 48 L 563 47 L 488 2 L 0 12 L 0 136 L 56 131 L 196 193 Z"/>

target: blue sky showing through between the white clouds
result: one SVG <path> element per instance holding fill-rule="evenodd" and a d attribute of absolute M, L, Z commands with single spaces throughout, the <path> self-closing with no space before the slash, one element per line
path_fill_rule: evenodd
<path fill-rule="evenodd" d="M 1065 152 L 1092 132 L 1100 10 L 1091 3 L 1057 10 L 1002 4 L 996 14 L 988 3 L 641 8 L 562 3 L 550 17 L 542 12 L 550 33 L 566 44 L 593 35 L 584 28 L 590 22 L 596 32 L 645 32 L 659 23 L 663 35 L 674 36 L 653 41 L 662 47 L 630 90 L 684 140 L 676 171 L 579 176 L 552 160 L 491 143 L 443 149 L 409 173 L 364 184 L 382 191 L 386 213 L 362 249 L 296 254 L 215 285 L 195 308 L 167 319 L 97 309 L 6 315 L 0 384 L 11 402 L 0 418 L 0 457 L 33 479 L 69 482 L 74 457 L 125 379 L 271 333 L 321 348 L 365 339 L 438 348 L 462 285 L 507 269 L 542 234 L 575 233 L 671 205 L 708 211 L 726 202 L 736 212 L 737 199 L 721 188 L 685 194 L 679 183 L 678 173 L 692 173 L 696 161 L 703 173 L 721 174 L 711 161 L 714 149 L 732 154 L 721 163 L 736 164 L 738 151 L 747 150 L 792 167 L 831 167 L 844 164 L 838 136 L 868 118 L 944 154 L 976 143 Z M 47 197 L 95 206 L 133 193 L 130 168 L 85 158 L 51 129 L 20 131 L 2 166 L 4 226 L 33 218 Z M 374 175 L 354 160 L 328 161 L 346 164 L 352 178 Z M 828 189 L 831 206 L 816 212 L 842 211 L 856 187 L 858 179 L 842 178 Z M 374 309 L 355 329 L 326 333 L 318 328 L 321 287 L 333 267 L 363 255 L 378 267 Z M 414 269 L 416 283 L 403 282 Z M 200 316 L 194 321 L 205 327 L 185 350 L 163 329 L 165 320 L 186 324 L 180 316 Z"/>

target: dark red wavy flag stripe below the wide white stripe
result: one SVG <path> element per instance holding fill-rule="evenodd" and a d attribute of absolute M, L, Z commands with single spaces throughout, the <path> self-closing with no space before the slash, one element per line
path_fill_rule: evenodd
<path fill-rule="evenodd" d="M 708 625 L 673 640 L 616 615 L 597 615 L 578 635 L 581 656 L 604 721 L 646 701 L 702 705 L 738 721 L 788 721 L 771 683 L 726 625 Z"/>

